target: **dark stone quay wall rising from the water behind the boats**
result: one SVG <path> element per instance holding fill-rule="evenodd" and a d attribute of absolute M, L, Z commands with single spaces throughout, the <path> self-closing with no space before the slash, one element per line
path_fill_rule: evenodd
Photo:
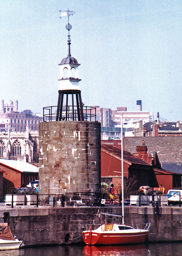
<path fill-rule="evenodd" d="M 0 222 L 9 215 L 9 226 L 26 246 L 83 242 L 82 231 L 93 223 L 98 210 L 121 215 L 122 207 L 1 207 Z M 98 217 L 97 217 L 98 218 Z M 95 218 L 96 222 L 98 219 Z M 102 222 L 121 223 L 118 217 L 102 215 Z M 148 241 L 182 241 L 181 207 L 125 207 L 125 224 L 150 222 Z"/>

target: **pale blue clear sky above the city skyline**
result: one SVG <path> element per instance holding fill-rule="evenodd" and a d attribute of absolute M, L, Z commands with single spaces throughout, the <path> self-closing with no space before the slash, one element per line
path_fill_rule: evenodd
<path fill-rule="evenodd" d="M 182 121 L 181 0 L 0 0 L 0 99 L 57 105 L 67 9 L 85 105 L 136 111 L 142 100 L 154 119 Z"/>

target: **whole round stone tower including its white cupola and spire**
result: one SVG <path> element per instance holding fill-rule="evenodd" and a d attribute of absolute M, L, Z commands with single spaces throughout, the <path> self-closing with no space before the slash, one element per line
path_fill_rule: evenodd
<path fill-rule="evenodd" d="M 69 18 L 70 11 L 67 15 Z M 71 29 L 69 19 L 66 29 Z M 65 206 L 96 206 L 100 203 L 101 186 L 100 123 L 95 119 L 95 108 L 82 104 L 80 64 L 71 57 L 70 44 L 68 34 L 68 56 L 59 64 L 57 110 L 44 108 L 46 122 L 39 126 L 39 197 L 45 203 L 51 196 L 56 201 L 65 198 Z"/>

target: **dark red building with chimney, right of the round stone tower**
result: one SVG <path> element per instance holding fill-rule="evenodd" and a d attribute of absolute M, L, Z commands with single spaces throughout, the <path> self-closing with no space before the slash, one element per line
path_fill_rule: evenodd
<path fill-rule="evenodd" d="M 134 177 L 136 190 L 144 185 L 159 187 L 161 183 L 166 190 L 181 187 L 182 174 L 162 169 L 155 151 L 148 152 L 145 145 L 137 145 L 135 151 L 123 152 L 123 169 L 125 179 Z M 121 149 L 107 142 L 101 144 L 101 180 L 121 186 Z"/>

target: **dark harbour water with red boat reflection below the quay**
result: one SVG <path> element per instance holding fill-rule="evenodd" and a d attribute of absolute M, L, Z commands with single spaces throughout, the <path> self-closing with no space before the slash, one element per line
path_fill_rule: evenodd
<path fill-rule="evenodd" d="M 181 243 L 116 246 L 60 245 L 0 251 L 0 256 L 182 256 Z"/>

